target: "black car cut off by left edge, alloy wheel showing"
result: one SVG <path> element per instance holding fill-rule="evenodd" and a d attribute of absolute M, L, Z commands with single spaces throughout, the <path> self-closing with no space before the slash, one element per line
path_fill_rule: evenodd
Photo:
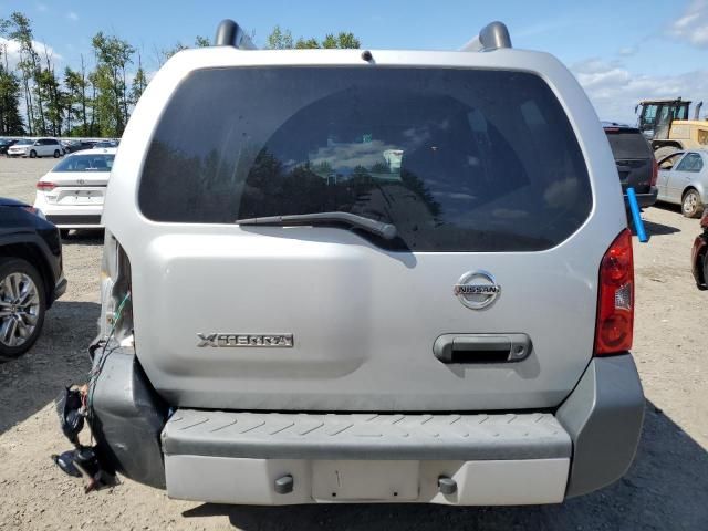
<path fill-rule="evenodd" d="M 0 360 L 34 344 L 65 290 L 59 229 L 40 210 L 0 198 Z"/>

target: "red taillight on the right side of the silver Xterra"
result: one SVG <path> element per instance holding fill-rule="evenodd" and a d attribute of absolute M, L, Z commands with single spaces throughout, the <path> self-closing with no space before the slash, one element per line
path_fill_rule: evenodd
<path fill-rule="evenodd" d="M 634 329 L 634 258 L 632 233 L 620 232 L 600 264 L 595 355 L 632 348 Z"/>

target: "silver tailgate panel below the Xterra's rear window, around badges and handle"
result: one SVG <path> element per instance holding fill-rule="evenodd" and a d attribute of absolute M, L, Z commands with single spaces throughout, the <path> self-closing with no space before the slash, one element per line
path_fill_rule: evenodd
<path fill-rule="evenodd" d="M 516 256 L 395 253 L 342 229 L 290 228 L 288 238 L 267 236 L 283 232 L 277 228 L 229 229 L 158 238 L 144 254 L 150 267 L 134 269 L 143 273 L 133 279 L 138 356 L 149 353 L 145 369 L 173 404 L 550 407 L 591 358 L 598 264 L 572 251 L 580 242 Z M 479 311 L 452 293 L 476 269 L 493 272 L 502 289 Z M 198 346 L 197 334 L 214 333 L 292 334 L 293 346 Z M 458 333 L 525 333 L 533 348 L 518 363 L 441 363 L 435 340 Z"/>

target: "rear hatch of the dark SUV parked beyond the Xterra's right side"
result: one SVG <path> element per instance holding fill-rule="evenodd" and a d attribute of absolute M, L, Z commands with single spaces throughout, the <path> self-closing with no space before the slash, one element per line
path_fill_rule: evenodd
<path fill-rule="evenodd" d="M 637 194 L 649 192 L 654 153 L 644 135 L 629 127 L 605 127 L 605 134 L 617 164 L 622 191 L 633 187 Z"/>

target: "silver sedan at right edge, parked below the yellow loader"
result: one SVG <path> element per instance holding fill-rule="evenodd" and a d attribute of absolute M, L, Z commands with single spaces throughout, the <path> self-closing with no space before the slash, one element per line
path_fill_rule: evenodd
<path fill-rule="evenodd" d="M 681 206 L 687 218 L 699 218 L 708 200 L 708 152 L 676 152 L 659 160 L 660 201 Z"/>

